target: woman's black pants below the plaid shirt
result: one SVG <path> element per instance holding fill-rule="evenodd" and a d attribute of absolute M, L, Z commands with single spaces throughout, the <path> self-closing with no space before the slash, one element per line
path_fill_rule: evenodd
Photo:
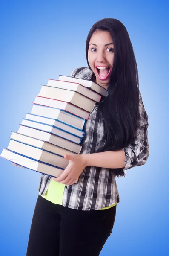
<path fill-rule="evenodd" d="M 40 195 L 34 209 L 27 256 L 98 256 L 112 233 L 116 206 L 81 211 Z"/>

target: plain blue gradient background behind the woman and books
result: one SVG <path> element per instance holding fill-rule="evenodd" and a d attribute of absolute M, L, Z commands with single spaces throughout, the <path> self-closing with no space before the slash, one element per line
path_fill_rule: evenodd
<path fill-rule="evenodd" d="M 129 32 L 149 116 L 146 165 L 117 178 L 120 203 L 100 256 L 167 255 L 169 13 L 167 1 L 29 0 L 0 3 L 0 147 L 32 109 L 40 84 L 86 66 L 91 26 L 105 17 Z M 1 151 L 0 151 L 1 152 Z M 40 174 L 0 159 L 0 255 L 26 255 Z"/>

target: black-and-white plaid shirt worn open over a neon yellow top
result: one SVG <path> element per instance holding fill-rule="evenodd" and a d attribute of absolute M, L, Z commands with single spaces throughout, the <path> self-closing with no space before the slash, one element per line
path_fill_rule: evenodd
<path fill-rule="evenodd" d="M 72 77 L 91 80 L 92 71 L 89 67 L 78 68 L 72 71 Z M 126 160 L 123 170 L 130 169 L 134 166 L 141 166 L 146 163 L 149 156 L 148 143 L 148 116 L 144 109 L 141 94 L 139 92 L 139 125 L 136 131 L 135 141 L 126 148 L 122 148 L 125 152 Z M 85 137 L 81 143 L 82 149 L 80 154 L 90 154 L 97 150 L 96 144 L 103 137 L 103 123 L 97 116 L 97 104 L 85 122 Z M 45 195 L 51 176 L 41 175 L 39 192 Z M 79 177 L 78 184 L 65 186 L 63 192 L 62 205 L 78 210 L 98 210 L 108 207 L 112 204 L 119 203 L 120 197 L 117 189 L 115 175 L 108 168 L 100 168 L 95 166 L 87 166 Z"/>

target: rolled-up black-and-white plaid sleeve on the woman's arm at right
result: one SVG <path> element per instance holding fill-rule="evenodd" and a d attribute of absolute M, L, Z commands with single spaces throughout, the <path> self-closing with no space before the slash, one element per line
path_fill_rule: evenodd
<path fill-rule="evenodd" d="M 127 147 L 122 148 L 126 155 L 124 171 L 146 163 L 149 157 L 148 126 L 148 115 L 145 111 L 139 90 L 139 122 L 135 132 L 135 140 Z"/>

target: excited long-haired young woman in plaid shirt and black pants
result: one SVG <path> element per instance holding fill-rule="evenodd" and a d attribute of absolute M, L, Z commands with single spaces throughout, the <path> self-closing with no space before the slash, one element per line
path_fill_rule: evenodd
<path fill-rule="evenodd" d="M 149 156 L 148 116 L 125 26 L 110 18 L 95 23 L 86 58 L 88 67 L 71 76 L 96 82 L 108 96 L 86 121 L 80 154 L 65 155 L 69 164 L 60 177 L 41 176 L 27 256 L 98 256 L 120 202 L 115 177 Z"/>

